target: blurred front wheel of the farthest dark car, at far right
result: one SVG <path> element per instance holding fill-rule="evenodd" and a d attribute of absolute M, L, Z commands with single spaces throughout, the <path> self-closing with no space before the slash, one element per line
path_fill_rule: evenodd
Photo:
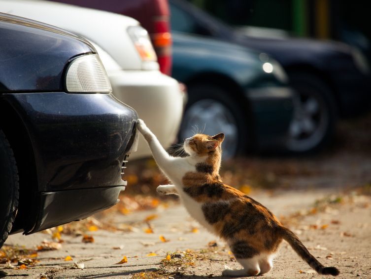
<path fill-rule="evenodd" d="M 336 101 L 319 78 L 304 73 L 289 77 L 296 95 L 287 149 L 294 154 L 313 153 L 325 147 L 335 133 Z"/>

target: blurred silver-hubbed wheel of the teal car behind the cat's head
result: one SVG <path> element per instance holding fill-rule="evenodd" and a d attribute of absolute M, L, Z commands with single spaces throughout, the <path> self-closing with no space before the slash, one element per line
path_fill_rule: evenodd
<path fill-rule="evenodd" d="M 196 133 L 224 133 L 223 159 L 242 155 L 248 142 L 246 114 L 223 88 L 202 84 L 188 87 L 188 103 L 179 131 L 179 141 Z"/>

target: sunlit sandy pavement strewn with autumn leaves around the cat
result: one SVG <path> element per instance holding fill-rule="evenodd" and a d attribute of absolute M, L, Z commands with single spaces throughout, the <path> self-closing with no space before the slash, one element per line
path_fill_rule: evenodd
<path fill-rule="evenodd" d="M 370 197 L 344 195 L 333 190 L 286 192 L 274 196 L 257 193 L 251 196 L 281 216 L 323 264 L 337 266 L 341 271 L 339 278 L 371 278 Z M 159 207 L 128 216 L 112 215 L 109 220 L 111 225 L 128 229 L 131 224 L 133 228 L 129 229 L 134 231 L 124 233 L 99 229 L 89 232 L 94 243 L 83 243 L 82 236 L 62 233 L 64 242 L 61 249 L 38 251 L 39 262 L 35 266 L 5 269 L 5 265 L 1 265 L 0 269 L 9 278 L 132 278 L 135 274 L 138 278 L 207 278 L 210 275 L 219 276 L 224 265 L 238 267 L 228 254 L 228 247 L 200 228 L 182 206 Z M 150 220 L 144 222 L 146 218 Z M 144 232 L 147 224 L 154 233 Z M 97 223 L 97 226 L 100 224 Z M 160 236 L 169 241 L 163 242 Z M 18 234 L 11 236 L 6 244 L 31 248 L 40 245 L 43 239 L 52 240 L 50 235 L 44 233 L 27 237 Z M 209 247 L 215 244 L 208 243 L 215 240 L 217 246 Z M 167 255 L 173 258 L 162 261 Z M 67 256 L 73 261 L 65 261 Z M 116 264 L 123 256 L 127 257 L 127 263 Z M 71 269 L 74 262 L 83 263 L 84 269 Z M 158 269 L 163 273 L 151 273 Z M 177 273 L 169 275 L 171 272 Z M 317 276 L 286 243 L 280 249 L 274 269 L 264 276 L 308 277 Z"/>

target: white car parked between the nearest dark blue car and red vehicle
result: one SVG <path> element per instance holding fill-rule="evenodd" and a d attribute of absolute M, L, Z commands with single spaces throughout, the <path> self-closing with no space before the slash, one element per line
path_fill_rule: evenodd
<path fill-rule="evenodd" d="M 113 94 L 137 111 L 165 147 L 176 139 L 185 93 L 176 80 L 159 71 L 148 33 L 135 19 L 44 0 L 0 0 L 0 12 L 54 25 L 91 41 L 107 71 Z M 140 137 L 131 159 L 150 154 Z"/>

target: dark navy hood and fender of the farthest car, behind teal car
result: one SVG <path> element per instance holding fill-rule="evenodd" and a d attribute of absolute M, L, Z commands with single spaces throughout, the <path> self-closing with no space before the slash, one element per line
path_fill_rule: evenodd
<path fill-rule="evenodd" d="M 371 73 L 359 66 L 353 47 L 330 40 L 246 36 L 186 1 L 169 0 L 169 5 L 172 13 L 187 17 L 190 33 L 257 49 L 270 54 L 288 72 L 316 75 L 333 90 L 340 116 L 358 115 L 370 108 Z"/>

